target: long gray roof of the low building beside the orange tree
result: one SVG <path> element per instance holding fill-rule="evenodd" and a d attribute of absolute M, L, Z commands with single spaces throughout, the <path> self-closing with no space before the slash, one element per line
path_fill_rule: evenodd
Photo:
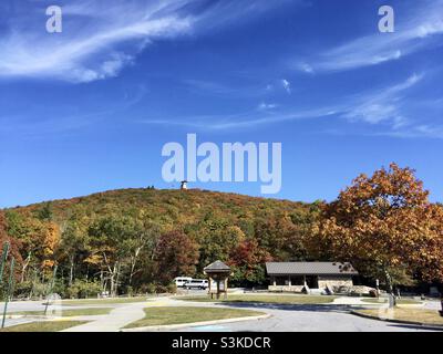
<path fill-rule="evenodd" d="M 269 275 L 356 275 L 359 273 L 351 263 L 340 262 L 267 262 L 266 272 Z"/>

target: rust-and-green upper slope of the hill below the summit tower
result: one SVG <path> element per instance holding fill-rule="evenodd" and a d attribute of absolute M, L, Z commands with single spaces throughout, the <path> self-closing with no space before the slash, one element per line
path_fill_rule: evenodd
<path fill-rule="evenodd" d="M 128 188 L 97 192 L 85 197 L 60 199 L 49 202 L 52 218 L 62 222 L 72 216 L 106 216 L 110 214 L 136 214 L 144 210 L 151 219 L 163 223 L 193 223 L 212 214 L 233 222 L 239 218 L 269 217 L 270 215 L 297 214 L 309 210 L 310 205 L 289 200 L 267 199 L 238 194 L 200 189 Z M 48 206 L 40 202 L 11 208 L 28 217 Z"/>

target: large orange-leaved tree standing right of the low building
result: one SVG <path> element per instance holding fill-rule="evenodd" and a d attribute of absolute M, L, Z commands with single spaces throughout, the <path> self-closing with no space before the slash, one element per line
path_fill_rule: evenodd
<path fill-rule="evenodd" d="M 443 209 L 427 196 L 410 168 L 391 164 L 372 177 L 360 175 L 323 206 L 308 244 L 383 274 L 390 293 L 394 269 L 405 268 L 422 280 L 443 280 Z"/>

